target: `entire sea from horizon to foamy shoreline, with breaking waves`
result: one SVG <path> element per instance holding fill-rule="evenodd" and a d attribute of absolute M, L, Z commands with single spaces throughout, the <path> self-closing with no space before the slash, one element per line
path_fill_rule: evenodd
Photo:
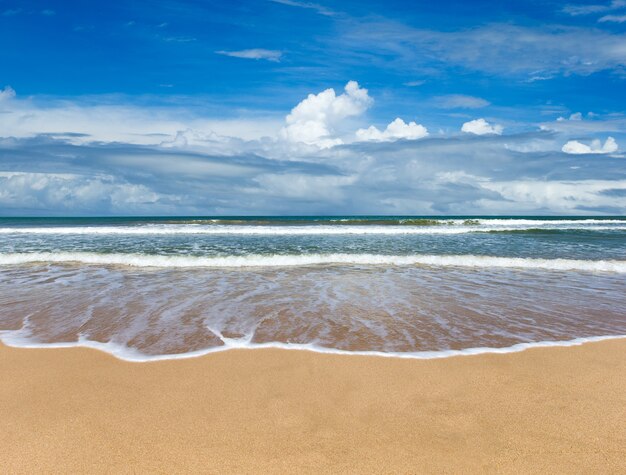
<path fill-rule="evenodd" d="M 429 358 L 624 335 L 624 217 L 0 218 L 12 346 Z"/>

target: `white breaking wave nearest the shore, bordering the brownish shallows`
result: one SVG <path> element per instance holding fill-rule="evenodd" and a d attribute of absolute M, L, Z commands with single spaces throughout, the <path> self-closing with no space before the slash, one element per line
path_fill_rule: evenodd
<path fill-rule="evenodd" d="M 533 259 L 477 255 L 384 254 L 250 254 L 244 256 L 164 256 L 151 254 L 98 254 L 89 252 L 32 252 L 0 254 L 0 265 L 29 263 L 81 263 L 159 268 L 294 267 L 315 265 L 380 265 L 470 268 L 518 268 L 626 273 L 626 261 Z"/>

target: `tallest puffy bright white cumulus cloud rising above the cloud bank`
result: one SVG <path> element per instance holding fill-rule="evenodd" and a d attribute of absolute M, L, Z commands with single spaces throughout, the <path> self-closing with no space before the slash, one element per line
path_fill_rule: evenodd
<path fill-rule="evenodd" d="M 343 143 L 334 136 L 334 127 L 347 117 L 362 114 L 373 102 L 367 89 L 356 81 L 348 82 L 344 89 L 339 96 L 332 88 L 309 94 L 285 118 L 287 125 L 280 131 L 281 138 L 322 148 Z"/>

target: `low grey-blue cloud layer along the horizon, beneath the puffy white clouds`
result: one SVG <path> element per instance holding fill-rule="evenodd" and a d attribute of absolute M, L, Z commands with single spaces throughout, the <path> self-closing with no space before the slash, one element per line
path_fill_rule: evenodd
<path fill-rule="evenodd" d="M 562 142 L 552 151 L 522 150 L 559 137 L 536 131 L 360 142 L 315 147 L 310 161 L 280 141 L 217 156 L 210 144 L 219 150 L 221 138 L 195 131 L 161 147 L 5 139 L 0 208 L 15 215 L 287 214 L 294 207 L 313 214 L 626 212 L 622 158 L 608 155 L 598 167 L 594 155 L 556 152 Z M 190 150 L 196 146 L 204 151 Z"/>

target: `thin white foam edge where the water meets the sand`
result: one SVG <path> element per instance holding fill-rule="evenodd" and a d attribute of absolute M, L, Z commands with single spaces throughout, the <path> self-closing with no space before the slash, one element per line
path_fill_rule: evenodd
<path fill-rule="evenodd" d="M 7 346 L 16 348 L 92 348 L 99 351 L 103 351 L 110 355 L 115 356 L 124 361 L 130 361 L 135 363 L 144 363 L 150 361 L 162 361 L 162 360 L 175 360 L 194 358 L 198 356 L 208 355 L 210 353 L 217 353 L 228 350 L 255 350 L 264 348 L 274 348 L 282 350 L 300 350 L 300 351 L 312 351 L 315 353 L 325 353 L 334 355 L 352 355 L 352 356 L 378 356 L 386 358 L 403 358 L 403 359 L 436 359 L 436 358 L 448 358 L 452 356 L 471 356 L 480 355 L 485 353 L 516 353 L 531 348 L 542 347 L 569 347 L 579 346 L 584 343 L 598 342 L 604 340 L 613 340 L 626 338 L 626 335 L 606 335 L 606 336 L 592 336 L 584 338 L 575 338 L 572 340 L 564 341 L 537 341 L 528 343 L 517 343 L 508 347 L 476 347 L 465 348 L 462 350 L 439 350 L 439 351 L 416 351 L 416 352 L 384 352 L 384 351 L 348 351 L 340 350 L 336 348 L 322 347 L 314 344 L 296 344 L 296 343 L 251 343 L 248 338 L 242 339 L 225 339 L 224 345 L 206 348 L 203 350 L 190 351 L 188 353 L 177 353 L 167 355 L 145 355 L 135 349 L 128 348 L 124 345 L 120 345 L 114 342 L 102 343 L 98 341 L 92 341 L 80 337 L 76 342 L 60 342 L 60 343 L 38 343 L 32 341 L 28 337 L 22 335 L 20 330 L 17 331 L 4 331 L 0 332 L 0 341 Z"/>

